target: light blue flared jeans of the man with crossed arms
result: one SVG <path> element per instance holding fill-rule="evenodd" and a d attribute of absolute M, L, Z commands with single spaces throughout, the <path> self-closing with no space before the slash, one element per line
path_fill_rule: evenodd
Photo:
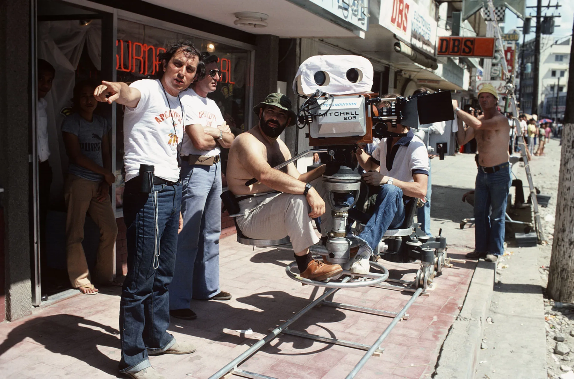
<path fill-rule="evenodd" d="M 219 293 L 221 235 L 221 163 L 181 163 L 183 230 L 177 240 L 176 269 L 169 308 L 189 308 L 191 299 Z"/>

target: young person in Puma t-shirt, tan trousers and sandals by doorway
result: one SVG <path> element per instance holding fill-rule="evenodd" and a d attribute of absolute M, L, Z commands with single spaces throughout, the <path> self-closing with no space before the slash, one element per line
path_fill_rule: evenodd
<path fill-rule="evenodd" d="M 62 124 L 62 135 L 69 158 L 64 198 L 68 208 L 66 218 L 66 253 L 68 276 L 72 287 L 86 295 L 98 289 L 91 279 L 106 286 L 121 286 L 114 282 L 114 243 L 118 234 L 114 210 L 110 202 L 110 185 L 115 181 L 111 172 L 111 155 L 107 120 L 94 115 L 98 101 L 96 85 L 89 81 L 77 83 L 73 89 L 73 110 Z M 100 229 L 98 256 L 94 275 L 90 275 L 82 247 L 84 221 L 90 214 Z"/>

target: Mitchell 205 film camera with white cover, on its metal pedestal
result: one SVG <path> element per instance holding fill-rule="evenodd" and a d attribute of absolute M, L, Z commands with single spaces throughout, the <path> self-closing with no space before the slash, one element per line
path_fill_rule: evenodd
<path fill-rule="evenodd" d="M 344 264 L 350 257 L 347 217 L 361 186 L 361 175 L 352 159 L 357 144 L 371 143 L 373 136 L 406 135 L 398 133 L 397 124 L 417 128 L 454 118 L 449 91 L 383 99 L 371 92 L 372 87 L 373 65 L 360 56 L 308 58 L 293 81 L 294 92 L 304 98 L 298 127 L 308 127 L 309 145 L 319 147 L 299 157 L 327 151 L 330 158 L 323 162 L 323 180 L 329 191 L 333 225 L 327 231 L 323 254 L 332 263 Z M 351 198 L 353 204 L 349 204 Z"/>

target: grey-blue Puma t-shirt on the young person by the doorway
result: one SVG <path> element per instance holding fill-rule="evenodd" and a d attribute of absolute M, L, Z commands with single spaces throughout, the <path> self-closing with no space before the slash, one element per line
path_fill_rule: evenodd
<path fill-rule="evenodd" d="M 110 131 L 110 126 L 102 116 L 94 115 L 92 122 L 84 119 L 77 113 L 69 115 L 62 123 L 62 131 L 77 136 L 80 142 L 80 151 L 96 163 L 104 166 L 102 160 L 102 139 Z M 88 179 L 94 182 L 103 180 L 103 175 L 94 173 L 82 166 L 71 163 L 68 166 L 68 173 L 77 177 Z"/>

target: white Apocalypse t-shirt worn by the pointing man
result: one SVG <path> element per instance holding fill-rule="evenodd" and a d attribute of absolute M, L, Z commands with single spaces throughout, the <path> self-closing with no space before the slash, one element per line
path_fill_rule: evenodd
<path fill-rule="evenodd" d="M 178 96 L 164 92 L 159 80 L 142 79 L 130 87 L 139 89 L 135 108 L 126 107 L 123 116 L 123 164 L 126 182 L 139 175 L 139 165 L 153 165 L 154 175 L 177 182 L 177 144 L 183 136 L 183 118 Z M 168 103 L 169 101 L 169 103 Z"/>

